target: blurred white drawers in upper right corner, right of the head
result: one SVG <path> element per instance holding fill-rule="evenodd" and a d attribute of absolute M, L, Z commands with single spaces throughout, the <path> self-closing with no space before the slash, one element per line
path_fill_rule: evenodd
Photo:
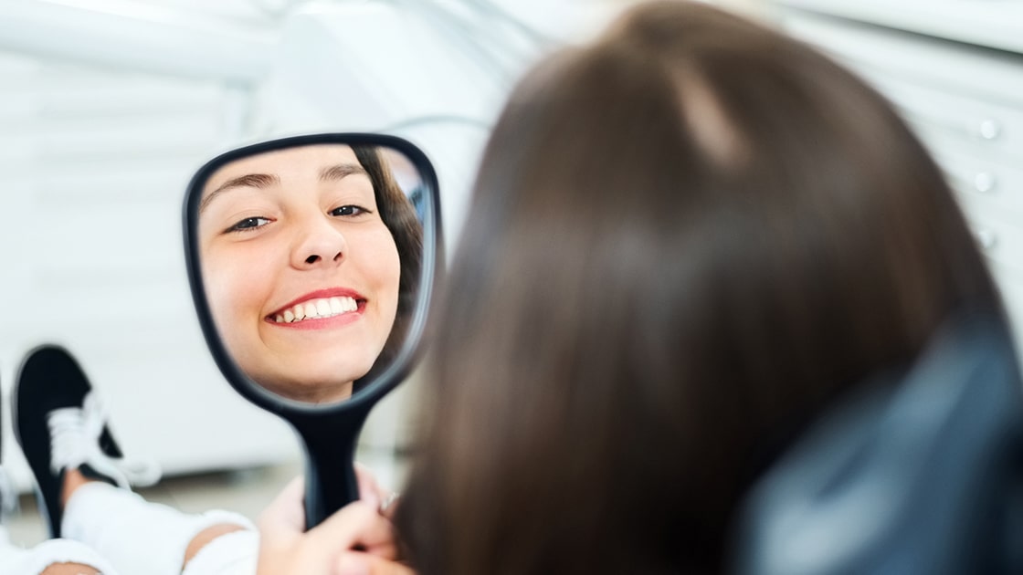
<path fill-rule="evenodd" d="M 1023 2 L 772 0 L 885 95 L 946 174 L 1023 352 Z"/>

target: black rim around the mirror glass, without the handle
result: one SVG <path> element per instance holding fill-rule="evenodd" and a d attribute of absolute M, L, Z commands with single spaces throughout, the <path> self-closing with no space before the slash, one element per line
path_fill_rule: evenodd
<path fill-rule="evenodd" d="M 408 333 L 394 362 L 352 398 L 331 404 L 311 405 L 279 397 L 263 389 L 238 367 L 227 352 L 223 342 L 220 341 L 203 284 L 198 254 L 197 213 L 206 181 L 215 171 L 230 162 L 287 147 L 339 143 L 390 147 L 405 154 L 419 171 L 425 191 L 422 204 L 422 280 L 419 282 L 415 307 L 408 324 Z M 198 315 L 207 347 L 210 349 L 217 367 L 220 368 L 221 373 L 224 374 L 231 387 L 242 397 L 263 409 L 284 417 L 293 426 L 303 427 L 303 423 L 315 426 L 317 423 L 322 423 L 325 417 L 332 417 L 339 413 L 365 414 L 377 400 L 403 381 L 421 355 L 420 348 L 427 327 L 427 315 L 434 295 L 438 291 L 441 272 L 444 270 L 439 189 L 437 173 L 426 153 L 405 139 L 386 134 L 339 132 L 278 138 L 232 149 L 203 165 L 192 176 L 185 193 L 183 213 L 185 265 L 188 272 L 188 282 L 191 286 L 192 302 L 195 305 L 195 312 Z"/>

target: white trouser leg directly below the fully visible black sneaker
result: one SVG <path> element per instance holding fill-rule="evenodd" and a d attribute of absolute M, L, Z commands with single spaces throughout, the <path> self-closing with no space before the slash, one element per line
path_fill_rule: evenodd
<path fill-rule="evenodd" d="M 217 537 L 182 571 L 185 549 L 201 531 L 227 523 L 246 528 Z M 254 575 L 259 537 L 246 517 L 224 511 L 190 515 L 146 501 L 127 489 L 93 482 L 64 506 L 64 537 L 82 541 L 124 575 Z"/>

